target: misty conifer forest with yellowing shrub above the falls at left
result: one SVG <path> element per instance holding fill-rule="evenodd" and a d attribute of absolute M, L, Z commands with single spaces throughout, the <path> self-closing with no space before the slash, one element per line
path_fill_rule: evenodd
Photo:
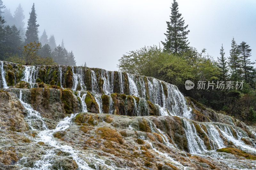
<path fill-rule="evenodd" d="M 14 16 L 8 10 L 3 11 L 4 8 L 0 0 L 0 60 L 26 65 L 53 65 L 56 62 L 76 66 L 74 54 L 66 50 L 63 40 L 57 47 L 54 36 L 51 35 L 48 40 L 45 30 L 39 39 L 35 4 L 29 12 L 26 33 L 21 5 Z"/>

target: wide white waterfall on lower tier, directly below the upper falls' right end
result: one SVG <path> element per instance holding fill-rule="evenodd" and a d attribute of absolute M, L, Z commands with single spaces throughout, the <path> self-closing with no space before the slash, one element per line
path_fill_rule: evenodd
<path fill-rule="evenodd" d="M 188 121 L 186 118 L 182 119 L 183 128 L 185 130 L 186 138 L 188 141 L 188 150 L 190 153 L 200 153 L 206 151 L 204 142 L 197 135 L 196 128 L 193 123 Z"/>

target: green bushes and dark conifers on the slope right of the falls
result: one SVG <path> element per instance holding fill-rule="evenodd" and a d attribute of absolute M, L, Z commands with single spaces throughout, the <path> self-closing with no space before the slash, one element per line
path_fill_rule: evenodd
<path fill-rule="evenodd" d="M 167 38 L 162 42 L 164 49 L 153 46 L 130 51 L 119 59 L 119 70 L 164 80 L 178 86 L 183 94 L 207 107 L 246 123 L 255 123 L 256 72 L 252 66 L 254 62 L 251 61 L 250 46 L 244 41 L 238 45 L 233 38 L 229 56 L 225 56 L 221 45 L 220 56 L 216 61 L 206 53 L 206 49 L 199 52 L 196 48 L 188 47 L 188 25 L 184 26 L 175 0 L 171 9 L 171 21 L 167 22 L 165 33 Z M 193 81 L 195 87 L 186 90 L 186 80 Z M 197 89 L 198 81 L 205 81 L 205 88 Z M 224 88 L 219 88 L 220 81 L 224 81 Z M 228 81 L 231 81 L 233 88 L 227 89 Z M 236 88 L 236 81 L 244 82 L 243 89 L 240 83 Z M 208 83 L 215 85 L 208 88 Z"/>

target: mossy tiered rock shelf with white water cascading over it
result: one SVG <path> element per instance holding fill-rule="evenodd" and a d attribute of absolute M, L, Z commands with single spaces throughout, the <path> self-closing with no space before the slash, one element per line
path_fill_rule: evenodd
<path fill-rule="evenodd" d="M 145 76 L 0 62 L 0 169 L 256 169 L 255 127 Z"/>

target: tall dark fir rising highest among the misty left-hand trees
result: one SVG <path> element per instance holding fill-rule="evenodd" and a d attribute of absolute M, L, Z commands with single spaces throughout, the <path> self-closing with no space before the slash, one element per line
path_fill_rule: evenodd
<path fill-rule="evenodd" d="M 36 24 L 36 10 L 35 10 L 35 3 L 33 3 L 33 6 L 31 8 L 31 12 L 29 12 L 29 19 L 28 19 L 28 27 L 26 31 L 26 38 L 25 38 L 25 44 L 30 42 L 39 42 L 38 39 L 38 27 L 39 24 Z"/>

